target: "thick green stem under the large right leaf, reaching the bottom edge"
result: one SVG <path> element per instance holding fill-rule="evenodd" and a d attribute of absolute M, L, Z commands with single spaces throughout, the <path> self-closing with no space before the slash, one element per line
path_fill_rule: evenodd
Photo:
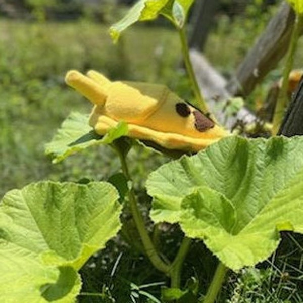
<path fill-rule="evenodd" d="M 207 291 L 204 299 L 199 300 L 200 303 L 214 303 L 216 301 L 217 295 L 222 287 L 228 268 L 219 263 L 216 269 L 215 275 L 213 277 L 212 283 Z"/>

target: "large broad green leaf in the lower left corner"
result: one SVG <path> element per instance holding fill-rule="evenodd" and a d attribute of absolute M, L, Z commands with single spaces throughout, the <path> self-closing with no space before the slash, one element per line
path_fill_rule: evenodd
<path fill-rule="evenodd" d="M 74 301 L 77 271 L 121 227 L 117 199 L 105 182 L 8 192 L 0 204 L 0 301 Z"/>

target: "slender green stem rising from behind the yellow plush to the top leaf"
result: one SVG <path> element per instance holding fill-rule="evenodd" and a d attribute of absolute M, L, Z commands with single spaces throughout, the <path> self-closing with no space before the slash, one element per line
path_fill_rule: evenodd
<path fill-rule="evenodd" d="M 187 43 L 187 38 L 185 34 L 185 27 L 183 26 L 182 28 L 178 29 L 180 40 L 181 40 L 181 45 L 182 45 L 182 54 L 183 54 L 183 59 L 185 63 L 185 67 L 188 73 L 188 77 L 191 81 L 192 85 L 192 90 L 194 93 L 194 96 L 197 100 L 197 108 L 200 109 L 204 113 L 208 113 L 208 107 L 207 104 L 201 94 L 201 90 L 199 88 L 197 79 L 195 77 L 192 64 L 189 58 L 189 48 L 188 48 L 188 43 Z"/>

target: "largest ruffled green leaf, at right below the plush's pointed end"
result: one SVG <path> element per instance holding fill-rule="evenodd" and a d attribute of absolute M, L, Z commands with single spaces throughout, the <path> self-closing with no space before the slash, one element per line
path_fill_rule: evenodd
<path fill-rule="evenodd" d="M 268 258 L 280 230 L 303 232 L 303 137 L 228 137 L 147 180 L 152 219 L 179 222 L 229 268 Z"/>

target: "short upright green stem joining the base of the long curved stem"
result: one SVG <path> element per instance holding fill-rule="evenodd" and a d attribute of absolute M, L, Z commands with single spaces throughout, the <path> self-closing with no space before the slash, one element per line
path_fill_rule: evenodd
<path fill-rule="evenodd" d="M 170 276 L 171 276 L 171 287 L 172 288 L 180 288 L 182 265 L 183 265 L 186 255 L 187 255 L 187 252 L 190 248 L 190 244 L 191 244 L 191 239 L 184 237 L 183 241 L 180 245 L 178 254 L 177 254 L 174 262 L 171 265 Z"/>

